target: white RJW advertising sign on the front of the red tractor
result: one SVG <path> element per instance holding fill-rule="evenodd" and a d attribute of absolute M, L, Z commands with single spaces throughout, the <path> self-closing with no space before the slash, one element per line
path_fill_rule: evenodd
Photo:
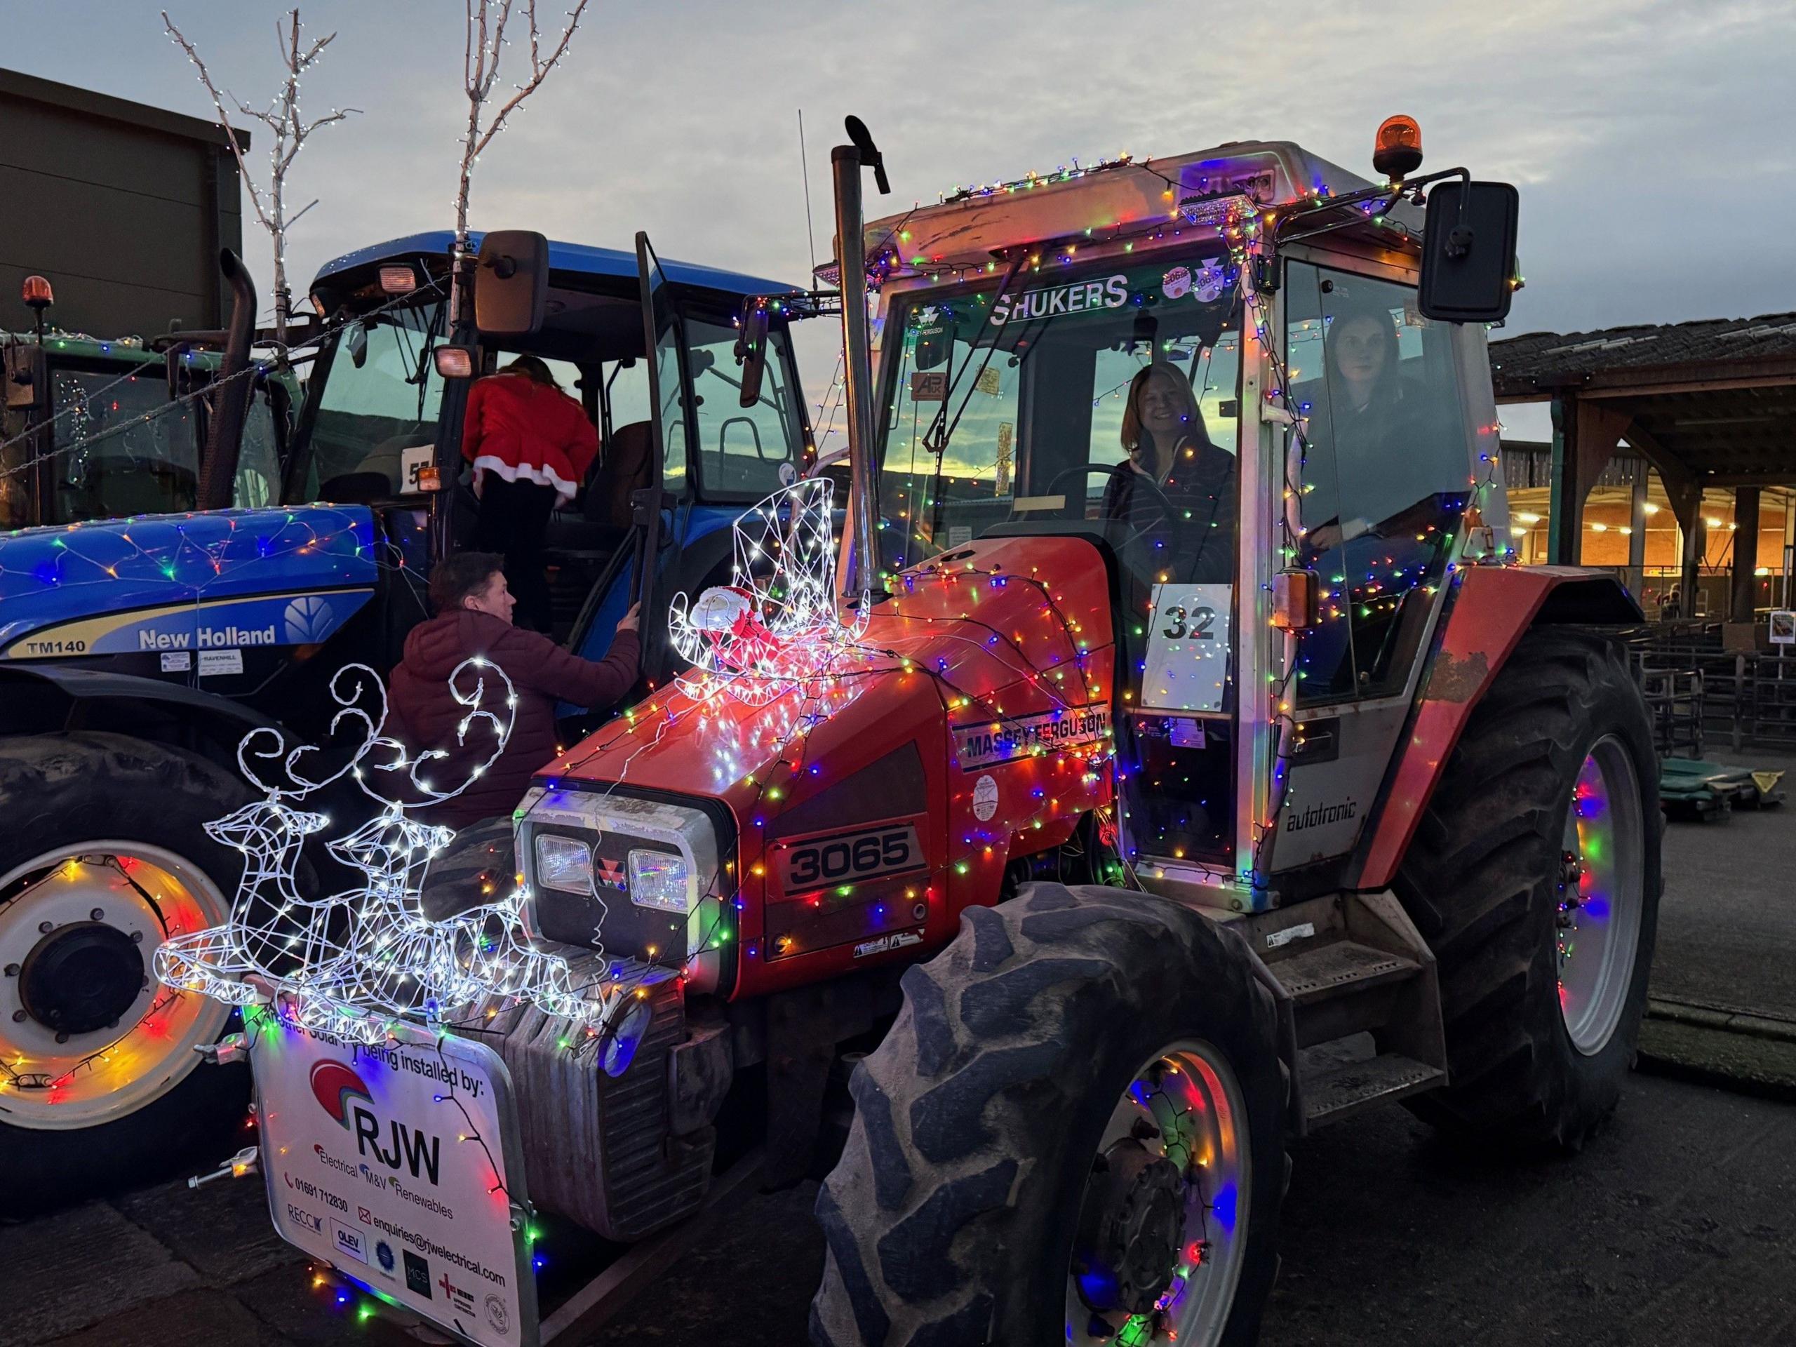
<path fill-rule="evenodd" d="M 510 1078 L 424 1031 L 366 1047 L 253 1017 L 262 1169 L 282 1239 L 481 1347 L 533 1347 Z M 515 1219 L 514 1219 L 515 1218 Z"/>

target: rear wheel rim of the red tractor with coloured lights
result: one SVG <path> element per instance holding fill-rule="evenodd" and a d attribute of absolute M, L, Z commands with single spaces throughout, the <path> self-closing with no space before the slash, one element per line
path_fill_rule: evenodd
<path fill-rule="evenodd" d="M 1555 961 L 1559 1013 L 1579 1052 L 1622 1024 L 1645 907 L 1645 819 L 1633 754 L 1615 735 L 1584 756 L 1566 808 Z"/>

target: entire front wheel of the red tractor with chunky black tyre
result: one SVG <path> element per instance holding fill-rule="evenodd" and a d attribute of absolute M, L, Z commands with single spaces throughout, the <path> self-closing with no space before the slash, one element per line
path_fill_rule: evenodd
<path fill-rule="evenodd" d="M 1110 887 L 973 907 L 903 975 L 817 1196 L 819 1347 L 1246 1343 L 1286 1076 L 1239 939 Z"/>

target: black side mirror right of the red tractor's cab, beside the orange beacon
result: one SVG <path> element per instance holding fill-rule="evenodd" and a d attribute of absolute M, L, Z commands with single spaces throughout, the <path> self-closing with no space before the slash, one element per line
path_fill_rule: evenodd
<path fill-rule="evenodd" d="M 1444 181 L 1428 192 L 1417 305 L 1442 323 L 1496 323 L 1516 291 L 1516 219 L 1510 183 Z"/>

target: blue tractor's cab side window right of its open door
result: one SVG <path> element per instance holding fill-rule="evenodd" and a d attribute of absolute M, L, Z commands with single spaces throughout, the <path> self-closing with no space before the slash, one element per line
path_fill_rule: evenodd
<path fill-rule="evenodd" d="M 742 406 L 736 329 L 686 320 L 686 366 L 699 436 L 699 480 L 706 497 L 760 499 L 779 490 L 779 469 L 799 469 L 797 415 L 787 388 L 787 334 L 767 334 L 767 374 L 753 408 Z"/>

